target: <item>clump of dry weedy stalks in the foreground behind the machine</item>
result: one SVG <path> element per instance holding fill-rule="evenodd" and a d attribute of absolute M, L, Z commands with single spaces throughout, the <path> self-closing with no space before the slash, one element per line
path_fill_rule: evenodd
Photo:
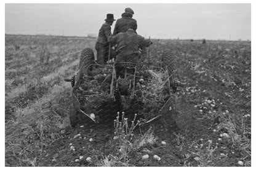
<path fill-rule="evenodd" d="M 140 128 L 140 120 L 137 120 L 137 114 L 134 115 L 133 120 L 129 122 L 124 117 L 124 112 L 114 120 L 114 141 L 116 141 L 117 153 L 116 156 L 111 155 L 107 161 L 111 166 L 129 166 L 130 155 L 132 152 L 137 152 L 145 145 L 154 145 L 158 137 L 153 135 L 152 128 L 148 129 L 145 134 L 137 134 L 134 132 L 135 128 Z"/>

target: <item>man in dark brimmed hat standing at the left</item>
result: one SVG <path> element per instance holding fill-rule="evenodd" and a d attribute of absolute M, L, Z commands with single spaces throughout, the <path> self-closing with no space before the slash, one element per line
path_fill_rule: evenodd
<path fill-rule="evenodd" d="M 97 50 L 97 63 L 105 64 L 108 61 L 108 55 L 110 51 L 110 60 L 114 58 L 116 52 L 110 48 L 110 44 L 108 43 L 108 37 L 111 36 L 111 25 L 113 24 L 114 15 L 106 14 L 106 22 L 103 23 L 100 31 L 98 31 L 98 39 L 95 45 L 95 49 Z"/>

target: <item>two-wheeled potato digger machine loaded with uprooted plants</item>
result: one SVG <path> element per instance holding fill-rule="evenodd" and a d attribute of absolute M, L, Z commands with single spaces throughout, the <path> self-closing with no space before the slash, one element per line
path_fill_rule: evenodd
<path fill-rule="evenodd" d="M 174 71 L 171 50 L 164 50 L 158 66 L 152 66 L 143 60 L 137 64 L 97 64 L 92 49 L 85 48 L 77 74 L 65 79 L 71 82 L 71 126 L 79 122 L 107 123 L 117 112 L 137 114 L 144 124 L 172 112 L 174 95 L 182 85 L 174 80 Z"/>

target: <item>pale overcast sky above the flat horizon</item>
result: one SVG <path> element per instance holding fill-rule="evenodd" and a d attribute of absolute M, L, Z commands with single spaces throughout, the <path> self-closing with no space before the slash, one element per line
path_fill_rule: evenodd
<path fill-rule="evenodd" d="M 98 34 L 106 14 L 120 18 L 126 7 L 147 38 L 251 39 L 250 4 L 6 4 L 5 33 Z"/>

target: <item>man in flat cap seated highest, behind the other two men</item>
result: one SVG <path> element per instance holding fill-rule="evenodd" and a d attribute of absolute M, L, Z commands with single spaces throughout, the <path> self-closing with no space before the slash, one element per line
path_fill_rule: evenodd
<path fill-rule="evenodd" d="M 119 18 L 116 21 L 116 25 L 114 26 L 114 32 L 113 32 L 114 35 L 118 33 L 126 33 L 126 31 L 129 28 L 134 29 L 135 33 L 137 34 L 136 32 L 137 21 L 134 18 L 132 18 L 132 15 L 134 15 L 134 10 L 127 7 L 124 10 L 124 13 L 122 14 L 122 18 Z"/>

